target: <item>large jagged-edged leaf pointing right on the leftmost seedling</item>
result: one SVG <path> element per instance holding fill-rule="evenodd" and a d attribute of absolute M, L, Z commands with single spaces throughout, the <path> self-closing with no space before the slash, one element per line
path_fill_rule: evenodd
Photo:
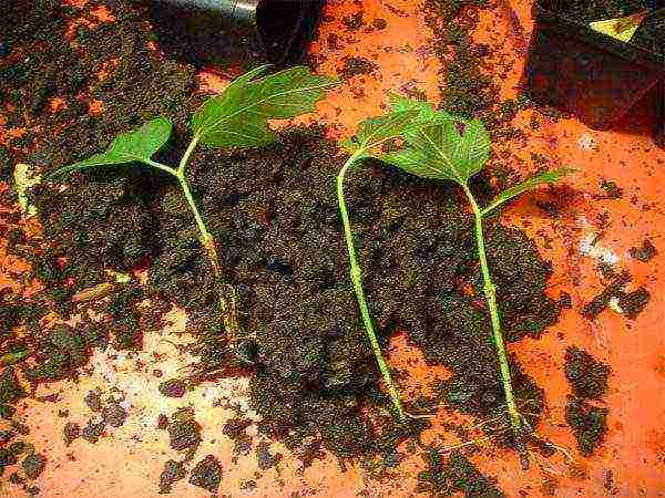
<path fill-rule="evenodd" d="M 305 66 L 264 75 L 267 69 L 264 65 L 243 74 L 201 106 L 192 118 L 192 131 L 201 143 L 258 147 L 275 142 L 268 120 L 315 111 L 315 103 L 325 97 L 325 91 L 337 84 Z"/>

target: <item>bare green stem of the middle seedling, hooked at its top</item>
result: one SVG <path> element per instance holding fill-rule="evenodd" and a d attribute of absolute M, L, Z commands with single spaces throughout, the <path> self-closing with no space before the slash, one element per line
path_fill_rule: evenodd
<path fill-rule="evenodd" d="M 344 236 L 349 253 L 351 283 L 354 284 L 354 291 L 356 292 L 358 308 L 360 308 L 360 315 L 362 317 L 362 322 L 365 324 L 365 332 L 369 338 L 374 355 L 376 356 L 377 364 L 379 365 L 379 370 L 388 387 L 388 393 L 390 394 L 390 398 L 392 400 L 392 404 L 395 406 L 395 409 L 397 411 L 398 418 L 400 422 L 405 422 L 405 409 L 402 407 L 399 393 L 397 392 L 397 387 L 392 382 L 392 376 L 390 375 L 390 367 L 383 359 L 383 353 L 381 352 L 381 346 L 379 345 L 379 340 L 377 339 L 374 323 L 369 314 L 369 309 L 367 307 L 367 301 L 365 299 L 365 291 L 362 290 L 362 270 L 360 269 L 360 264 L 358 263 L 358 257 L 356 256 L 356 247 L 354 246 L 351 224 L 349 221 L 347 205 L 344 197 L 344 177 L 349 167 L 361 157 L 362 153 L 354 154 L 339 170 L 339 174 L 337 175 L 337 203 L 339 204 L 339 214 L 344 224 Z"/>

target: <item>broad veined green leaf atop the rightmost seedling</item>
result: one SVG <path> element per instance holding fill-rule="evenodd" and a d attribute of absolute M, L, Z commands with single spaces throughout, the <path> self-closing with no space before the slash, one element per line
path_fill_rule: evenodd
<path fill-rule="evenodd" d="M 382 159 L 422 178 L 466 186 L 490 157 L 489 133 L 479 120 L 452 118 L 442 113 L 431 121 L 434 124 L 408 129 L 405 148 Z"/>

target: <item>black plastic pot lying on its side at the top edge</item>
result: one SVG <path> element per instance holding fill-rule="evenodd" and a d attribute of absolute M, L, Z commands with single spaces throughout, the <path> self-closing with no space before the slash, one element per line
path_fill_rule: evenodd
<path fill-rule="evenodd" d="M 325 0 L 144 0 L 160 46 L 222 66 L 303 59 Z"/>

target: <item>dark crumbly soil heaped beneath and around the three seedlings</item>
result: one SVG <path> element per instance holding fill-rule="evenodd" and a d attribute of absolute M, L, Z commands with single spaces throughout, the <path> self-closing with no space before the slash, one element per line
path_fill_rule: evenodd
<path fill-rule="evenodd" d="M 123 1 L 113 3 L 119 21 L 80 28 L 75 45 L 63 41 L 65 21 L 75 12 L 59 1 L 44 0 L 34 9 L 18 2 L 17 9 L 3 12 L 0 22 L 23 30 L 21 37 L 10 37 L 14 49 L 0 61 L 2 70 L 24 71 L 0 83 L 11 124 L 28 124 L 22 105 L 40 95 L 68 103 L 66 111 L 55 114 L 44 113 L 43 105 L 29 105 L 28 134 L 9 143 L 12 160 L 50 170 L 99 152 L 119 132 L 156 115 L 170 116 L 176 125 L 161 159 L 173 163 L 182 154 L 188 138 L 184 124 L 203 98 L 194 69 L 150 51 L 152 34 L 141 13 Z M 450 19 L 458 14 L 458 8 L 446 13 Z M 495 137 L 514 134 L 500 121 L 509 120 L 514 106 L 500 105 L 497 89 L 479 72 L 485 48 L 471 42 L 467 28 L 454 22 L 447 28 L 456 56 L 446 73 L 442 104 L 487 118 Z M 39 56 L 20 56 L 38 46 Z M 96 72 L 119 48 L 119 66 L 98 81 Z M 41 80 L 59 83 L 39 91 Z M 105 112 L 89 115 L 93 98 L 104 102 Z M 494 117 L 499 107 L 504 111 L 500 120 Z M 40 135 L 33 126 L 40 127 Z M 321 446 L 340 456 L 391 452 L 397 440 L 420 427 L 396 427 L 389 401 L 377 387 L 374 356 L 348 282 L 332 189 L 342 157 L 321 132 L 289 129 L 277 144 L 258 152 L 201 148 L 192 159 L 191 180 L 228 279 L 238 289 L 244 325 L 257 334 L 247 351 L 254 363 L 250 391 L 263 417 L 260 430 L 304 454 L 316 454 Z M 49 144 L 42 137 L 49 137 Z M 129 167 L 74 175 L 65 183 L 62 191 L 60 185 L 49 184 L 34 191 L 52 243 L 31 257 L 47 286 L 44 310 L 71 312 L 74 292 L 108 281 L 106 268 L 126 271 L 150 260 L 150 282 L 146 288 L 134 281 L 117 287 L 110 302 L 93 303 L 108 315 L 102 324 L 58 330 L 35 344 L 38 366 L 27 370 L 31 378 L 72 376 L 92 347 L 109 341 L 116 347 L 141 347 L 139 331 L 158 321 L 158 313 L 144 317 L 136 311 L 144 298 L 187 309 L 188 329 L 198 339 L 200 380 L 226 372 L 229 355 L 216 326 L 215 282 L 175 185 L 162 175 Z M 481 198 L 493 194 L 488 185 L 487 177 L 475 181 Z M 347 194 L 381 341 L 406 330 L 428 363 L 453 372 L 440 386 L 447 403 L 482 418 L 502 413 L 471 218 L 459 208 L 457 189 L 366 164 L 349 176 Z M 521 231 L 495 221 L 488 222 L 488 251 L 508 339 L 540 336 L 559 314 L 557 304 L 545 295 L 548 263 Z M 63 256 L 64 264 L 59 260 Z M 13 320 L 11 313 L 3 317 Z M 39 317 L 20 320 L 37 324 Z M 119 329 L 120 334 L 109 332 Z M 519 401 L 539 413 L 540 388 L 515 362 L 512 366 Z M 13 394 L 8 400 L 19 395 L 9 392 Z M 368 418 L 362 408 L 376 413 Z M 96 440 L 104 426 L 91 421 L 83 437 Z M 191 450 L 201 440 L 192 418 L 172 419 L 167 430 L 175 449 Z"/>

